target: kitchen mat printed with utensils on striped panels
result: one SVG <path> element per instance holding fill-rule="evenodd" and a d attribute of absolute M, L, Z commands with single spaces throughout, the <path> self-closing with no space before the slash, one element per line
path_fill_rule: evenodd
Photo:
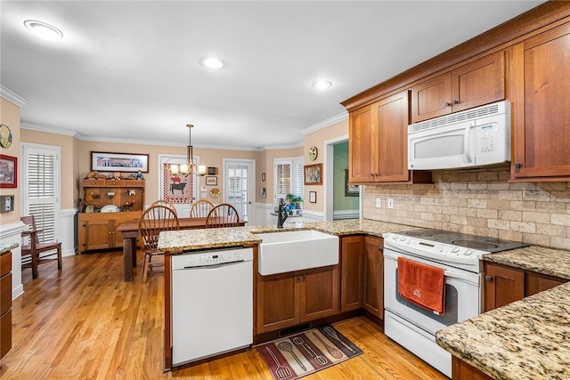
<path fill-rule="evenodd" d="M 256 347 L 275 380 L 292 380 L 360 355 L 335 327 L 313 328 Z"/>

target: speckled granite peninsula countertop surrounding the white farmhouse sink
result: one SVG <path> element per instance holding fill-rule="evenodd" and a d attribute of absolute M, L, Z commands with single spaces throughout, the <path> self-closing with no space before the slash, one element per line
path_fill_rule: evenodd
<path fill-rule="evenodd" d="M 337 236 L 367 234 L 382 237 L 385 232 L 415 229 L 418 227 L 369 219 L 346 219 L 333 222 L 289 222 L 285 223 L 282 229 L 272 224 L 221 229 L 175 230 L 160 232 L 158 249 L 178 254 L 199 249 L 255 245 L 262 242 L 262 239 L 256 236 L 258 233 L 288 230 L 319 230 Z"/>

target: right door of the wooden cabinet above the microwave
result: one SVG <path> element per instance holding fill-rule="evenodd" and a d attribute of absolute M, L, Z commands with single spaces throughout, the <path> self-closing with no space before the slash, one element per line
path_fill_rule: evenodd
<path fill-rule="evenodd" d="M 487 55 L 452 71 L 452 111 L 505 99 L 505 53 Z"/>

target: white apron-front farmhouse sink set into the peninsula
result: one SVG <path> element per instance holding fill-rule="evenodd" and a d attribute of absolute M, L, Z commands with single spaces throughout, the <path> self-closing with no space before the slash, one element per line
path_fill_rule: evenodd
<path fill-rule="evenodd" d="M 260 233 L 262 276 L 338 264 L 338 236 L 317 230 Z"/>

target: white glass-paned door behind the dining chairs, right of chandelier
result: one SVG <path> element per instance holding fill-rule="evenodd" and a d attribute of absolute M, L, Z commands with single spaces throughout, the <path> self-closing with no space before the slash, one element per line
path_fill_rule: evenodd
<path fill-rule="evenodd" d="M 224 159 L 224 202 L 238 210 L 240 219 L 254 224 L 256 161 Z"/>

